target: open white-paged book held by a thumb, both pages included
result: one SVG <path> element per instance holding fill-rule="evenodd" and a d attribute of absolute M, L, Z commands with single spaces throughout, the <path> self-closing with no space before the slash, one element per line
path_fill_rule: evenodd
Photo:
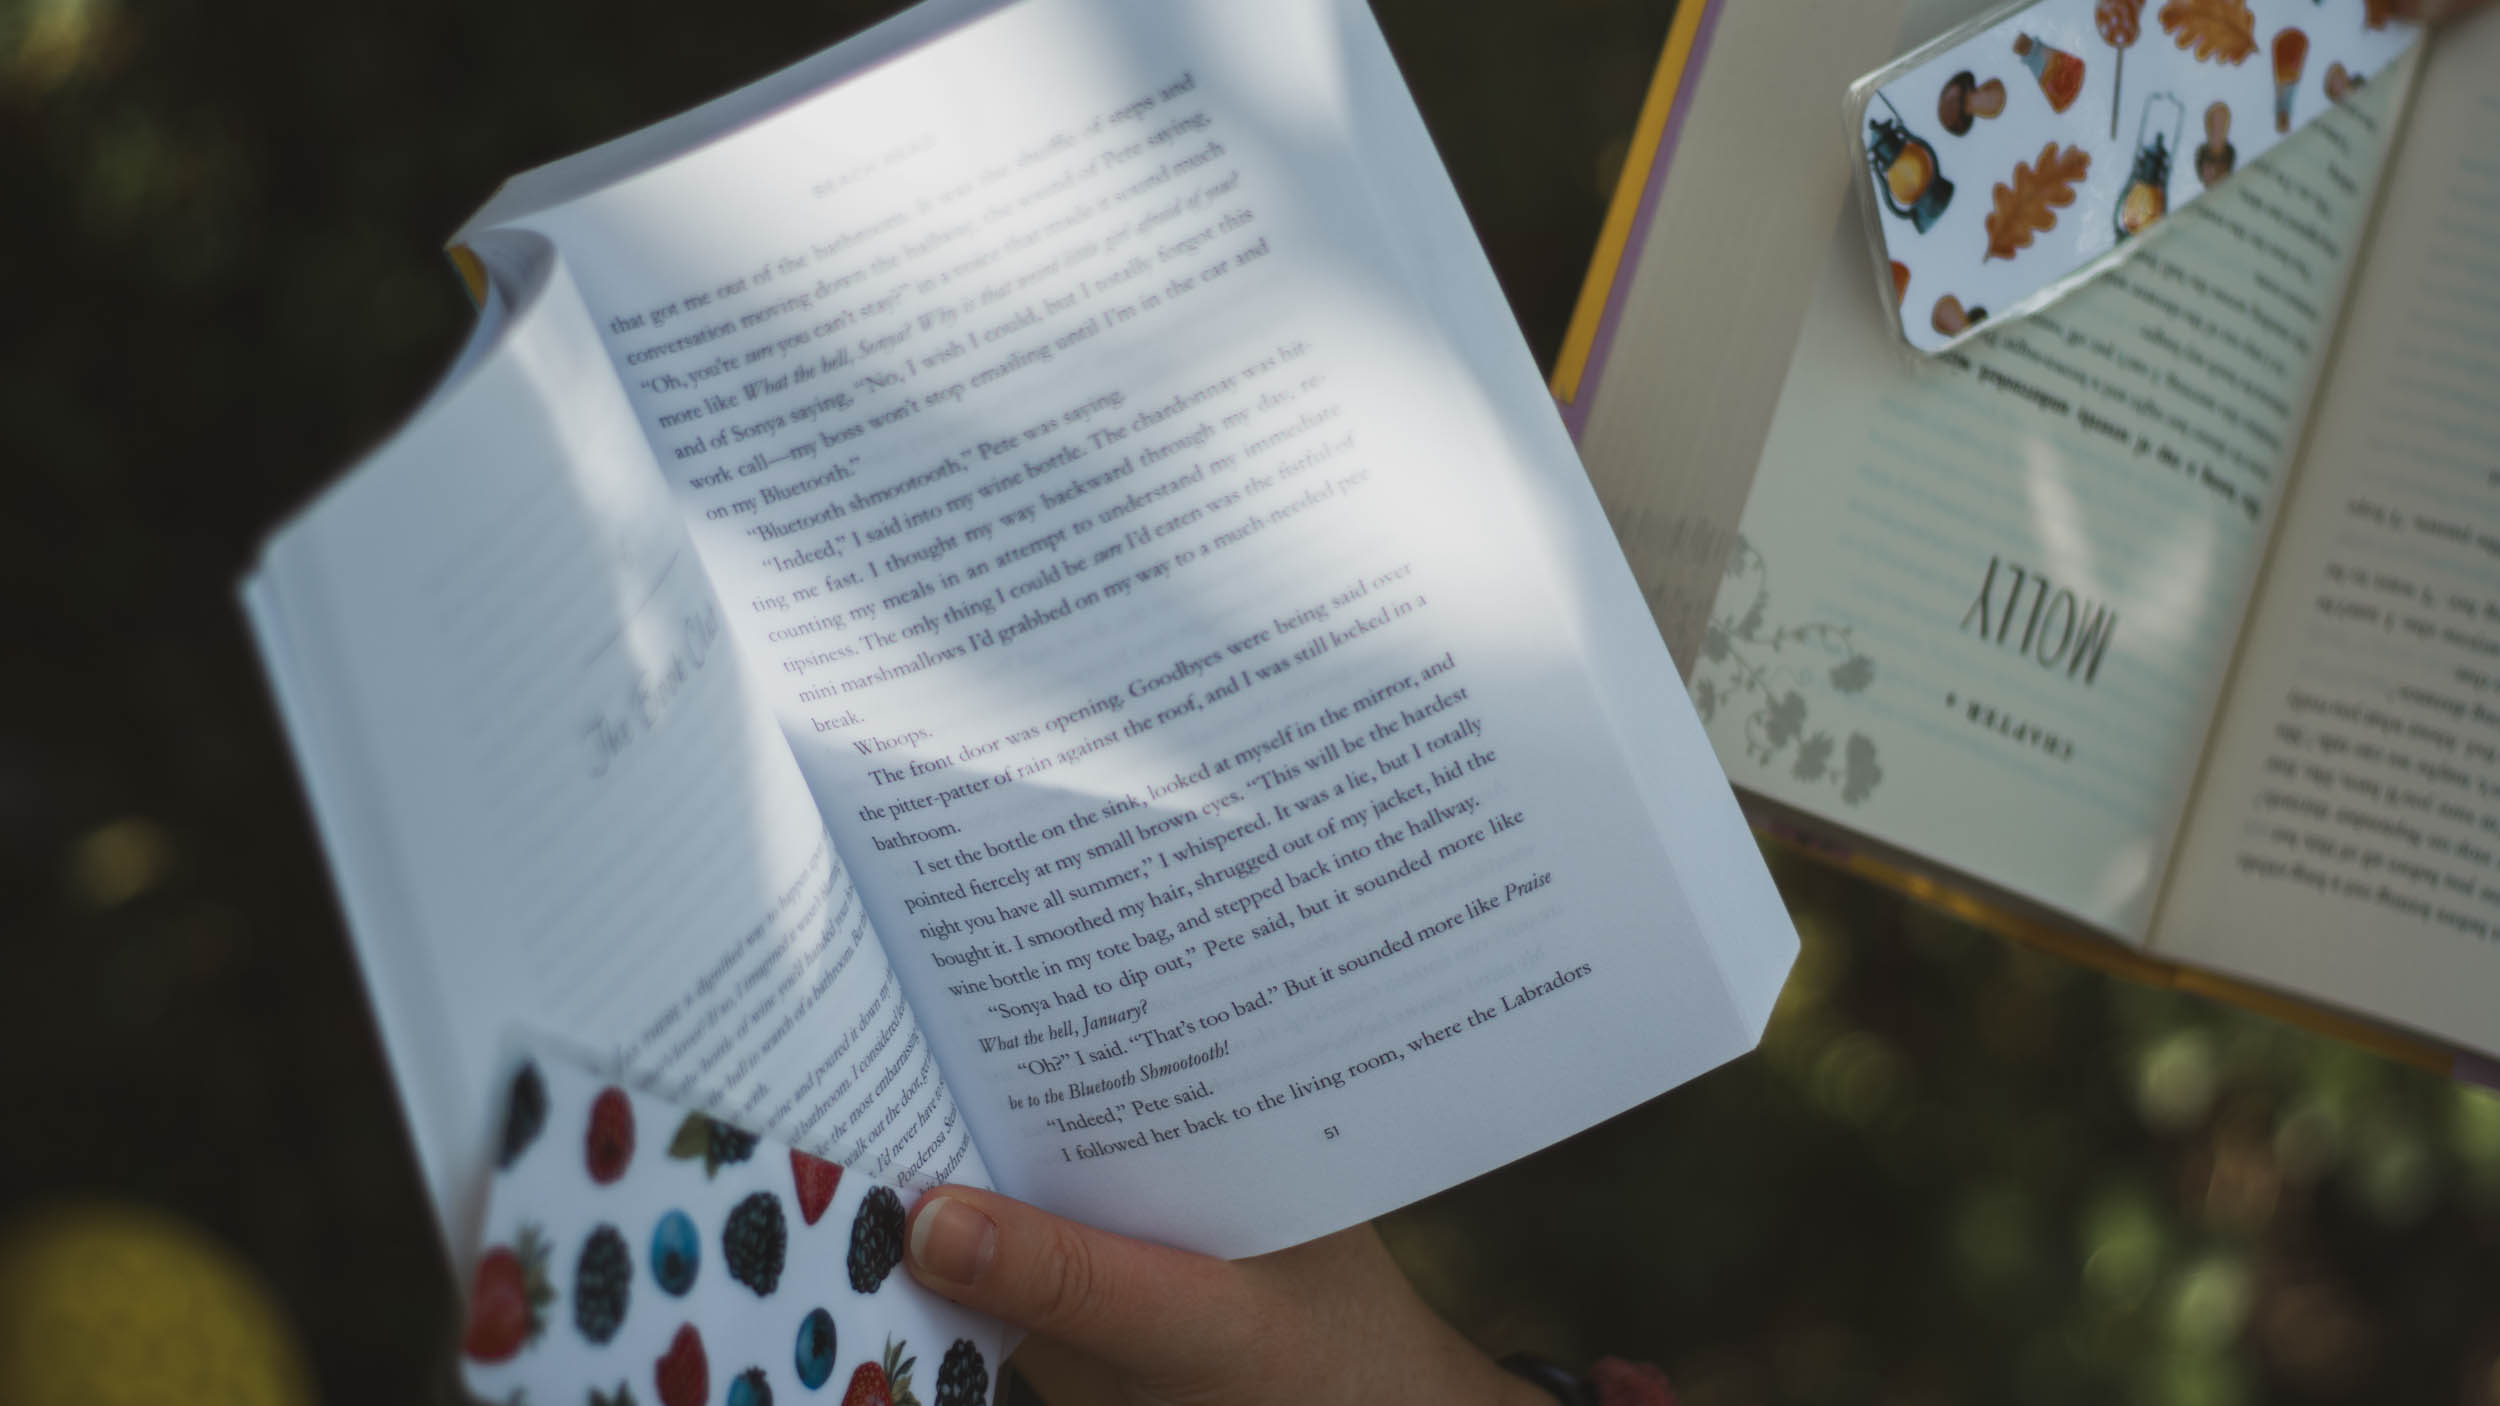
<path fill-rule="evenodd" d="M 248 583 L 452 1241 L 492 1051 L 1240 1256 L 1795 933 L 1370 13 L 922 5 L 522 175 Z"/>

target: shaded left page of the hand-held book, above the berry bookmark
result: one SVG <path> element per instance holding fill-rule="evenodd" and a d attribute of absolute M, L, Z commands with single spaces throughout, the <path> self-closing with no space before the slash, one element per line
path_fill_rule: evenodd
<path fill-rule="evenodd" d="M 248 593 L 450 1243 L 518 1033 L 982 1176 L 560 270 Z"/>

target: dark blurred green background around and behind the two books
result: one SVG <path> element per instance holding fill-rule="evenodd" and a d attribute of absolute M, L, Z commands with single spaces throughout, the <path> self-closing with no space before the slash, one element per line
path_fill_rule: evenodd
<path fill-rule="evenodd" d="M 232 583 L 450 360 L 502 175 L 892 8 L 0 0 L 0 1398 L 448 1398 Z M 1672 3 L 1378 10 L 1550 358 Z M 1488 1348 L 1692 1406 L 2500 1406 L 2500 1098 L 1778 873 L 1758 1056 L 1385 1223 Z"/>

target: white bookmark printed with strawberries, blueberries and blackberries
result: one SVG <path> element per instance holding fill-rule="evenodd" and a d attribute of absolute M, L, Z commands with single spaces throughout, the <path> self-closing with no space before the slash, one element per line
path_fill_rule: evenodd
<path fill-rule="evenodd" d="M 902 1196 L 532 1056 L 460 1358 L 528 1406 L 988 1406 L 1010 1328 L 912 1283 Z"/>

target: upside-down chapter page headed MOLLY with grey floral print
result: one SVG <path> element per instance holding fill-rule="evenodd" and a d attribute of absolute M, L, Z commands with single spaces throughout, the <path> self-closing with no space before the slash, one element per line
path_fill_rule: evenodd
<path fill-rule="evenodd" d="M 1692 663 L 1740 786 L 2145 936 L 2398 88 L 1935 360 L 1842 213 Z"/>

